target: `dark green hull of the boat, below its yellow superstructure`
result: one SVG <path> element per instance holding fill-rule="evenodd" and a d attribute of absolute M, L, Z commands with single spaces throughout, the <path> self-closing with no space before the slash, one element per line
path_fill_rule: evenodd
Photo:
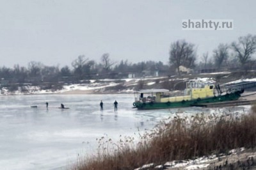
<path fill-rule="evenodd" d="M 241 97 L 241 93 L 243 91 L 236 91 L 234 93 L 221 95 L 219 97 L 211 97 L 211 98 L 197 98 L 196 100 L 182 100 L 179 102 L 141 102 L 136 101 L 133 103 L 134 107 L 137 109 L 145 110 L 145 109 L 168 109 L 168 108 L 177 108 L 177 107 L 191 107 L 198 104 L 205 103 L 218 103 L 218 102 L 227 102 L 231 100 L 237 100 Z"/>

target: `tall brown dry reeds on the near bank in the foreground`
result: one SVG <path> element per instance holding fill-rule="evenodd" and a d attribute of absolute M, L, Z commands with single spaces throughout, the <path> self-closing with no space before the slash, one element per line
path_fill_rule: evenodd
<path fill-rule="evenodd" d="M 132 137 L 119 143 L 99 139 L 96 155 L 78 160 L 72 169 L 135 169 L 144 164 L 164 164 L 171 160 L 225 153 L 233 148 L 256 146 L 256 107 L 239 118 L 204 116 L 175 118 L 159 123 L 141 136 L 138 144 Z M 121 139 L 120 139 L 121 140 Z"/>

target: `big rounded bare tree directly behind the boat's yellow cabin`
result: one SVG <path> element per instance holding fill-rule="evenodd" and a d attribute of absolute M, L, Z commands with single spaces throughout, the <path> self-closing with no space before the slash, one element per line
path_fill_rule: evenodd
<path fill-rule="evenodd" d="M 191 67 L 195 65 L 195 45 L 185 40 L 173 42 L 170 48 L 170 64 L 177 68 L 180 75 L 179 67 L 181 65 Z"/>

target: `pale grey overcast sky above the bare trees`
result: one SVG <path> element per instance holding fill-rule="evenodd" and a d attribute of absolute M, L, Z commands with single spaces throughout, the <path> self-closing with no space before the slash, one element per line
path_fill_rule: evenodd
<path fill-rule="evenodd" d="M 79 55 L 168 63 L 170 44 L 195 43 L 198 58 L 219 43 L 256 35 L 256 1 L 0 0 L 0 66 L 70 66 Z M 182 19 L 232 19 L 232 31 L 184 31 Z"/>

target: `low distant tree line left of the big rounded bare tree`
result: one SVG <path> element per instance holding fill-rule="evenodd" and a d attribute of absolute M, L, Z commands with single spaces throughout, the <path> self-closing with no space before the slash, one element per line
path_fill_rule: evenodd
<path fill-rule="evenodd" d="M 15 65 L 13 68 L 0 67 L 0 79 L 15 83 L 42 82 L 42 81 L 81 81 L 88 79 L 127 78 L 129 73 L 136 77 L 153 75 L 154 72 L 168 73 L 169 66 L 161 61 L 142 61 L 129 63 L 127 60 L 116 63 L 111 60 L 108 53 L 102 54 L 101 61 L 97 63 L 85 56 L 78 56 L 71 66 L 45 66 L 31 61 L 28 66 Z"/>

